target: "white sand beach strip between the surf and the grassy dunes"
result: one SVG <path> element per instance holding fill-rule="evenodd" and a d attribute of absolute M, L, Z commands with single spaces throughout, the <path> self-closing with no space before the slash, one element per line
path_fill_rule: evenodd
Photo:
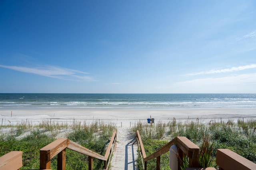
<path fill-rule="evenodd" d="M 256 109 L 0 109 L 0 125 L 30 122 L 38 124 L 43 120 L 55 122 L 103 121 L 116 123 L 117 127 L 128 127 L 136 122 L 168 122 L 174 117 L 179 121 L 188 119 L 200 121 L 237 120 L 256 118 Z"/>

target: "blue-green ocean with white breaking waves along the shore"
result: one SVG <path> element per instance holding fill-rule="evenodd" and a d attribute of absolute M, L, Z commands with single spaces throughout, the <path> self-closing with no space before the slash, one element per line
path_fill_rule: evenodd
<path fill-rule="evenodd" d="M 256 108 L 256 94 L 0 94 L 0 109 Z"/>

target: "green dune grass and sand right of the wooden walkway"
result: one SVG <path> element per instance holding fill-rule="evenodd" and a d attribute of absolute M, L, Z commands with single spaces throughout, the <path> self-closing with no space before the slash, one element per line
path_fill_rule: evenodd
<path fill-rule="evenodd" d="M 175 137 L 184 136 L 200 147 L 201 167 L 216 167 L 217 149 L 230 149 L 256 163 L 256 119 L 239 119 L 236 123 L 233 120 L 205 123 L 199 119 L 180 122 L 174 118 L 168 123 L 151 125 L 138 122 L 132 130 L 139 130 L 147 156 Z M 161 156 L 161 170 L 170 170 L 168 156 Z M 187 158 L 180 158 L 180 161 L 184 168 L 188 166 Z M 142 169 L 142 162 L 137 162 L 139 169 Z M 147 167 L 155 169 L 156 160 L 148 161 Z"/>

